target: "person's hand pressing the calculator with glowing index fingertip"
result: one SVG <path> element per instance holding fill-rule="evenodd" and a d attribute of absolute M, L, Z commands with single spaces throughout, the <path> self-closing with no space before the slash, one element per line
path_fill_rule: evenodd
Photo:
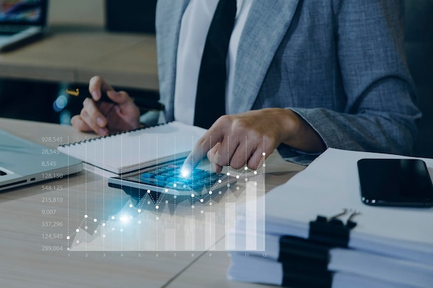
<path fill-rule="evenodd" d="M 208 158 L 216 172 L 223 166 L 258 169 L 279 144 L 305 152 L 324 151 L 325 144 L 300 115 L 283 108 L 266 108 L 220 117 L 195 144 L 183 164 L 188 173 Z"/>

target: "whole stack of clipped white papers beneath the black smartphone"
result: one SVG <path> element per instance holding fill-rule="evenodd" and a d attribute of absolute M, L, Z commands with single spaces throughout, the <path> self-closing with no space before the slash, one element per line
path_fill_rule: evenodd
<path fill-rule="evenodd" d="M 232 253 L 228 278 L 286 287 L 433 287 L 433 209 L 362 204 L 362 158 L 404 157 L 328 149 L 266 194 L 266 249 Z M 433 160 L 423 160 L 432 177 Z M 329 220 L 342 209 L 347 213 L 336 219 L 343 225 L 360 213 L 345 245 L 344 235 L 334 243 L 311 237 L 317 215 Z"/>

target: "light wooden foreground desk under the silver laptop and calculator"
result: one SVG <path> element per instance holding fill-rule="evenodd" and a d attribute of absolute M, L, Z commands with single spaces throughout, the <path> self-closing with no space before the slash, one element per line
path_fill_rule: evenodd
<path fill-rule="evenodd" d="M 42 142 L 42 137 L 62 137 L 70 142 L 93 137 L 71 126 L 13 119 L 0 119 L 0 128 L 53 148 L 59 143 Z M 303 168 L 287 162 L 275 162 L 275 167 L 282 172 L 266 175 L 266 190 Z M 247 287 L 226 280 L 226 252 L 211 252 L 212 257 L 209 251 L 95 252 L 90 246 L 86 251 L 86 245 L 81 246 L 82 251 L 67 251 L 67 233 L 76 227 L 86 229 L 80 215 L 102 211 L 109 215 L 110 209 L 129 199 L 123 191 L 108 187 L 106 181 L 83 171 L 48 182 L 50 187 L 62 185 L 62 191 L 35 184 L 0 193 L 0 287 Z M 50 197 L 62 197 L 63 202 L 46 202 Z M 106 203 L 103 207 L 102 202 Z M 216 203 L 215 209 L 221 205 Z M 42 213 L 46 209 L 57 209 L 57 214 L 47 217 Z M 52 225 L 47 227 L 46 222 Z M 63 226 L 53 227 L 53 222 Z M 55 239 L 55 234 L 63 234 L 63 238 Z M 43 251 L 45 246 L 64 249 Z"/>

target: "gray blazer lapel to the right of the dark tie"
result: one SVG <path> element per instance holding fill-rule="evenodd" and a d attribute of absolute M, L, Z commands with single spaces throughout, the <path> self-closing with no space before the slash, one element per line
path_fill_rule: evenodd
<path fill-rule="evenodd" d="M 253 1 L 239 41 L 234 97 L 228 113 L 252 108 L 270 62 L 295 15 L 297 3 L 298 0 Z"/>

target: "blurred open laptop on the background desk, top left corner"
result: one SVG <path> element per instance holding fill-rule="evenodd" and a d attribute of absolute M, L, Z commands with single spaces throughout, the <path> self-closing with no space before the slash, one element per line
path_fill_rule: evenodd
<path fill-rule="evenodd" d="M 0 0 L 0 52 L 46 31 L 48 0 Z"/>

